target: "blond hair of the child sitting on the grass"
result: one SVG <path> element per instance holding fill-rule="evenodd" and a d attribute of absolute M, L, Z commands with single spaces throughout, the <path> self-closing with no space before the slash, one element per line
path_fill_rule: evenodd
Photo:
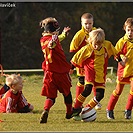
<path fill-rule="evenodd" d="M 6 84 L 11 87 L 12 85 L 16 85 L 21 80 L 23 79 L 20 75 L 11 74 L 6 77 Z"/>

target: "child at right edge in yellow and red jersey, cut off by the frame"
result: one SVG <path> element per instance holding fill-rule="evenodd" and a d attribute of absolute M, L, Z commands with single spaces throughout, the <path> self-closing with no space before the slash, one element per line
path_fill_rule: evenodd
<path fill-rule="evenodd" d="M 127 18 L 123 26 L 125 35 L 116 43 L 116 50 L 121 53 L 121 57 L 125 60 L 124 66 L 118 63 L 117 69 L 117 85 L 110 96 L 107 106 L 107 118 L 115 119 L 114 108 L 123 91 L 125 84 L 130 84 L 130 92 L 125 107 L 125 119 L 131 119 L 133 106 L 133 18 Z"/>

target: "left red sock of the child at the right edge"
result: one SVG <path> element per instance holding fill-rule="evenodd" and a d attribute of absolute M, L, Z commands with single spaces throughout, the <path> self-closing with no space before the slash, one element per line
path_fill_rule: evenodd
<path fill-rule="evenodd" d="M 114 96 L 113 94 L 110 96 L 108 106 L 107 106 L 108 110 L 114 110 L 114 107 L 118 101 L 118 98 L 119 98 L 118 96 Z"/>

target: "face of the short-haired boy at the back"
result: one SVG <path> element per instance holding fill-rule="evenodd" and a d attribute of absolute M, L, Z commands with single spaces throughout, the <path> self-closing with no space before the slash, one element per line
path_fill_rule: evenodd
<path fill-rule="evenodd" d="M 92 18 L 90 18 L 90 19 L 82 18 L 81 25 L 84 27 L 84 29 L 87 32 L 90 32 L 92 30 L 92 27 L 93 27 L 93 19 Z"/>

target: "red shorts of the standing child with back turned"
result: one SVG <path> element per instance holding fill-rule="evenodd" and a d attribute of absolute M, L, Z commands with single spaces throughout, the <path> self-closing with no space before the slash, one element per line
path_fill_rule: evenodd
<path fill-rule="evenodd" d="M 54 73 L 46 71 L 44 73 L 42 96 L 56 98 L 57 91 L 67 96 L 70 93 L 71 78 L 68 73 Z"/>

